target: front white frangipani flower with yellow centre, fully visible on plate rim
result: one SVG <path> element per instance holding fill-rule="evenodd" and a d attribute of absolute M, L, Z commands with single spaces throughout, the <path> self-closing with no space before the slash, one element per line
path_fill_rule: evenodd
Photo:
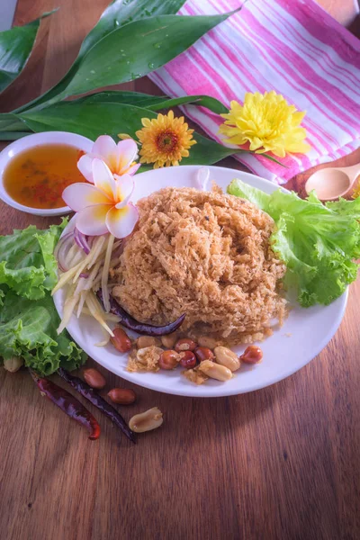
<path fill-rule="evenodd" d="M 127 237 L 138 220 L 138 209 L 131 204 L 134 181 L 130 175 L 112 175 L 103 160 L 94 157 L 91 164 L 93 184 L 68 185 L 62 193 L 67 205 L 76 211 L 76 227 L 85 235 L 110 232 L 116 238 Z"/>

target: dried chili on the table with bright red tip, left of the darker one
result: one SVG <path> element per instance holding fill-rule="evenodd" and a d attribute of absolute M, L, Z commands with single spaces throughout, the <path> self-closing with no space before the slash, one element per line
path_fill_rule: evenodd
<path fill-rule="evenodd" d="M 44 379 L 35 374 L 31 369 L 32 379 L 38 385 L 40 393 L 49 398 L 50 401 L 58 405 L 70 419 L 76 420 L 89 431 L 89 439 L 95 440 L 100 436 L 100 426 L 91 412 L 85 409 L 84 405 L 77 401 L 69 392 L 60 388 L 57 384 L 51 383 L 49 379 Z"/>

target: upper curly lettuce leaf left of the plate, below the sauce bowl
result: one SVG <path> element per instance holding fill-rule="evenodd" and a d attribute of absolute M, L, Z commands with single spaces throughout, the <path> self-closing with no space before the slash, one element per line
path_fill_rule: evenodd
<path fill-rule="evenodd" d="M 45 230 L 31 225 L 0 237 L 0 284 L 31 300 L 43 298 L 58 280 L 53 251 L 66 224 Z"/>

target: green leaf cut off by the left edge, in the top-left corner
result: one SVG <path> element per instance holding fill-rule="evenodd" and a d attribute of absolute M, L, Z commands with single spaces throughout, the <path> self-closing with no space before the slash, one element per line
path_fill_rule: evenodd
<path fill-rule="evenodd" d="M 50 12 L 52 13 L 52 12 Z M 24 26 L 0 32 L 0 92 L 23 71 L 39 30 L 40 20 L 50 13 Z"/>

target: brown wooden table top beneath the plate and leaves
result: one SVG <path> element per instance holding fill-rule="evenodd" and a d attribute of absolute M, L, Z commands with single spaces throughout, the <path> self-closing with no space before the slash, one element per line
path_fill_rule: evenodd
<path fill-rule="evenodd" d="M 58 80 L 105 4 L 19 0 L 16 24 L 61 9 L 42 23 L 36 51 L 2 98 L 2 110 Z M 352 0 L 321 4 L 342 23 L 352 19 Z M 157 91 L 147 79 L 124 86 Z M 357 152 L 341 163 L 359 160 Z M 232 159 L 226 163 L 237 166 Z M 289 185 L 300 189 L 305 177 Z M 0 216 L 3 234 L 50 222 L 4 204 Z M 264 390 L 202 400 L 134 387 L 139 401 L 124 410 L 127 418 L 155 405 L 165 413 L 163 428 L 139 437 L 138 446 L 130 446 L 103 418 L 102 437 L 89 442 L 85 431 L 41 399 L 25 371 L 0 370 L 0 537 L 359 538 L 359 305 L 357 283 L 329 346 L 299 373 Z M 106 377 L 110 387 L 134 386 Z"/>

